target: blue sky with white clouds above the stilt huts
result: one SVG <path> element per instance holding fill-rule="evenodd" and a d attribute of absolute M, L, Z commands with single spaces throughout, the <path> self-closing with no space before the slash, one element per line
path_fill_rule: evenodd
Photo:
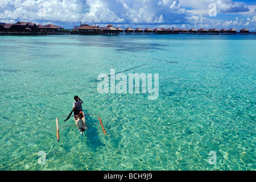
<path fill-rule="evenodd" d="M 209 6 L 212 5 L 215 6 Z M 209 14 L 210 12 L 210 14 Z M 213 13 L 216 13 L 214 16 Z M 56 24 L 86 22 L 132 28 L 256 29 L 252 0 L 1 0 L 0 22 Z"/>

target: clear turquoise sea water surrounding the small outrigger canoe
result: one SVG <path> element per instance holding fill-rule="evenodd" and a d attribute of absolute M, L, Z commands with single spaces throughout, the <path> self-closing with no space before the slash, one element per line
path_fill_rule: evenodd
<path fill-rule="evenodd" d="M 255 170 L 255 47 L 250 35 L 1 36 L 0 170 Z M 158 73 L 158 99 L 98 93 L 112 68 Z M 61 127 L 56 141 L 75 95 L 108 135 Z"/>

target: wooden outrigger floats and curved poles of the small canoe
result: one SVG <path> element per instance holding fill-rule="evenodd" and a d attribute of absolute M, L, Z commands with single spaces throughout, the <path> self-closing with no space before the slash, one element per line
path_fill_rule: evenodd
<path fill-rule="evenodd" d="M 84 114 L 84 113 L 83 113 L 83 115 L 85 116 L 85 115 L 97 115 L 97 114 Z M 59 118 L 61 118 L 61 117 L 68 117 L 68 116 L 73 116 L 74 119 L 75 119 L 76 117 L 78 117 L 78 115 L 61 115 Z M 84 121 L 85 126 L 88 126 L 88 125 L 101 125 L 102 131 L 103 131 L 103 133 L 106 135 L 106 130 L 105 130 L 105 128 L 104 128 L 104 126 L 103 126 L 103 123 L 102 123 L 102 121 L 101 121 L 101 117 L 100 117 L 99 115 L 97 115 L 97 117 L 98 117 L 98 121 L 100 122 L 100 124 L 86 124 L 86 123 L 85 123 L 85 117 L 83 117 L 82 120 Z M 64 126 L 59 127 L 59 118 L 56 118 L 56 135 L 57 135 L 57 142 L 60 141 L 60 133 L 59 133 L 59 130 L 60 130 L 61 127 L 64 127 Z M 65 125 L 65 126 L 76 126 L 76 125 Z M 81 134 L 81 138 L 83 138 L 84 131 L 79 131 L 79 132 L 80 132 L 80 134 Z"/>

